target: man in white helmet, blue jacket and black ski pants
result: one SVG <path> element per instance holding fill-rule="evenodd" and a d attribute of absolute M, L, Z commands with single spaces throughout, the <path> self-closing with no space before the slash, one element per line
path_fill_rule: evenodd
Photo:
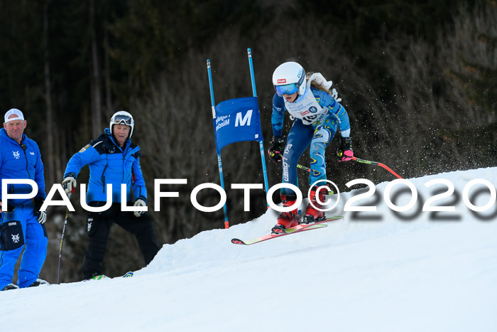
<path fill-rule="evenodd" d="M 134 206 L 144 207 L 147 201 L 145 180 L 140 167 L 140 148 L 131 143 L 133 127 L 131 114 L 116 112 L 104 134 L 72 156 L 65 168 L 62 187 L 65 193 L 73 193 L 81 168 L 89 166 L 86 200 L 91 207 L 102 207 L 107 203 L 107 184 L 112 185 L 111 207 L 103 212 L 89 211 L 87 214 L 89 241 L 84 254 L 83 279 L 102 275 L 105 247 L 113 223 L 135 235 L 146 264 L 151 262 L 159 250 L 151 218 L 143 211 L 121 210 L 121 183 L 126 184 L 126 205 L 131 205 L 134 200 Z"/>

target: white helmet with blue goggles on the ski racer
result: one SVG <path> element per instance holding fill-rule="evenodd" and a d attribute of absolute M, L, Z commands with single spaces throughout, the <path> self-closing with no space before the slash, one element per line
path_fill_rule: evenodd
<path fill-rule="evenodd" d="M 299 95 L 305 93 L 305 70 L 294 62 L 282 63 L 273 73 L 273 85 L 278 95 Z"/>

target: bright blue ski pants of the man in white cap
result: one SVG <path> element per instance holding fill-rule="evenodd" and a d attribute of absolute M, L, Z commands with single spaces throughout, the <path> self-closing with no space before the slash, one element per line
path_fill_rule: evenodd
<path fill-rule="evenodd" d="M 19 267 L 18 286 L 28 287 L 39 278 L 41 267 L 47 256 L 48 238 L 45 225 L 40 225 L 33 213 L 33 204 L 27 203 L 16 206 L 12 213 L 1 213 L 0 223 L 18 220 L 22 226 L 24 245 L 13 250 L 0 250 L 0 289 L 13 282 L 13 274 L 17 259 L 23 252 L 21 267 Z M 16 236 L 10 235 L 10 236 Z"/>

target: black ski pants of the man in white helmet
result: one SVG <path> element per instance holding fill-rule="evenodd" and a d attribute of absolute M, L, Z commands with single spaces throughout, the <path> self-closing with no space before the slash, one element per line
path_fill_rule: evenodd
<path fill-rule="evenodd" d="M 92 202 L 90 206 L 102 206 L 104 202 Z M 128 205 L 131 205 L 128 203 Z M 121 211 L 121 203 L 113 203 L 108 210 L 87 215 L 87 235 L 89 237 L 87 250 L 84 253 L 83 279 L 90 279 L 102 274 L 102 262 L 105 256 L 105 247 L 113 223 L 135 235 L 145 264 L 152 261 L 160 247 L 155 238 L 151 218 L 144 213 L 135 217 L 133 212 Z"/>

